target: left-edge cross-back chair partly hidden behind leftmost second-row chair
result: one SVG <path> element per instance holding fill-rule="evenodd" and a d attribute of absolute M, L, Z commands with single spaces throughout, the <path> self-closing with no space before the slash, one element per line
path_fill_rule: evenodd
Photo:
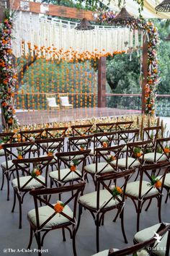
<path fill-rule="evenodd" d="M 35 142 L 20 142 L 20 143 L 10 143 L 4 144 L 3 149 L 5 153 L 5 161 L 1 163 L 2 168 L 2 183 L 1 190 L 4 187 L 4 178 L 7 182 L 7 200 L 9 200 L 9 181 L 11 176 L 14 175 L 15 166 L 12 163 L 12 159 L 17 158 L 30 158 L 32 147 Z M 18 151 L 17 149 L 20 148 Z M 19 156 L 20 155 L 20 156 Z"/>

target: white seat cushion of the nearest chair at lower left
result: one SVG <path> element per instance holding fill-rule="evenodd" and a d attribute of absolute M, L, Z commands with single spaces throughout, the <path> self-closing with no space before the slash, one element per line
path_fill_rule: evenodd
<path fill-rule="evenodd" d="M 39 219 L 40 219 L 40 225 L 44 223 L 53 213 L 55 213 L 55 210 L 50 208 L 49 206 L 42 206 L 38 208 L 39 211 Z M 66 213 L 69 217 L 73 218 L 73 212 L 71 208 L 68 207 L 68 205 L 65 205 L 63 208 L 63 213 Z M 35 209 L 30 210 L 30 212 L 27 214 L 28 219 L 36 226 L 36 213 Z M 52 228 L 53 226 L 58 226 L 64 223 L 70 222 L 68 218 L 62 216 L 60 213 L 55 214 L 53 218 L 48 221 L 48 223 L 43 226 L 43 228 Z"/>

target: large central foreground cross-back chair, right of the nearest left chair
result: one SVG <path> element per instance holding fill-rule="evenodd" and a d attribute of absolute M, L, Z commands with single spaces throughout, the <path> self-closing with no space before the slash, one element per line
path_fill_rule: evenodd
<path fill-rule="evenodd" d="M 125 189 L 128 179 L 134 173 L 134 170 L 123 171 L 122 173 L 102 174 L 97 176 L 97 191 L 91 192 L 79 197 L 79 221 L 81 219 L 82 208 L 89 210 L 96 224 L 97 252 L 99 252 L 99 226 L 104 224 L 104 214 L 109 210 L 117 209 L 121 219 L 122 234 L 125 243 L 128 243 L 124 229 L 124 205 Z M 108 186 L 112 181 L 112 186 Z M 117 183 L 119 186 L 117 187 Z M 119 189 L 120 194 L 113 194 L 114 189 Z"/>

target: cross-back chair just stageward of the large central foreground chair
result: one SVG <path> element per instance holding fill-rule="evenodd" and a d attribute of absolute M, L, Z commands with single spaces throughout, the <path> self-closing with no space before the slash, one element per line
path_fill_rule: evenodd
<path fill-rule="evenodd" d="M 117 158 L 120 158 L 122 148 L 124 147 L 125 145 L 116 145 L 107 148 L 96 148 L 95 163 L 84 166 L 85 178 L 87 174 L 90 174 L 96 186 L 97 175 L 116 172 L 117 168 L 112 163 L 116 161 Z"/>

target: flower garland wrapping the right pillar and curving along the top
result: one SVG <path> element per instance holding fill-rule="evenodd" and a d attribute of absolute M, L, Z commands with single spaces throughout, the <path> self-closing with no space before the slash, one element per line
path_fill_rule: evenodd
<path fill-rule="evenodd" d="M 114 17 L 114 12 L 102 12 L 98 14 L 97 21 L 100 24 L 106 22 L 112 24 Z M 155 114 L 156 90 L 159 82 L 158 59 L 156 53 L 159 42 L 158 31 L 153 22 L 146 22 L 143 19 L 137 19 L 131 23 L 128 22 L 125 26 L 133 29 L 144 30 L 148 39 L 148 76 L 145 86 L 145 114 L 153 115 Z"/>

